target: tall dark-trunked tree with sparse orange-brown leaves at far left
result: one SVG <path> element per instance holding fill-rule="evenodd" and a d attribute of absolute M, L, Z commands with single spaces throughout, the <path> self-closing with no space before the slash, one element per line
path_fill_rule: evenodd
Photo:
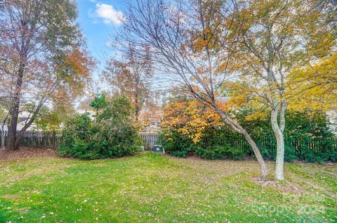
<path fill-rule="evenodd" d="M 74 1 L 5 0 L 1 6 L 1 59 L 14 67 L 7 148 L 16 149 L 46 101 L 84 87 L 87 66 L 93 61 L 81 49 Z M 20 105 L 25 101 L 33 101 L 35 106 L 29 122 L 16 136 Z"/>

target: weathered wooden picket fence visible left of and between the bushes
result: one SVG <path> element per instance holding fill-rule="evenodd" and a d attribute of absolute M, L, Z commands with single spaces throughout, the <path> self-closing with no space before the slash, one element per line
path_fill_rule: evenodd
<path fill-rule="evenodd" d="M 19 134 L 19 131 L 16 132 Z M 152 149 L 158 143 L 158 133 L 156 132 L 140 132 L 139 136 L 143 140 L 144 148 L 146 150 Z M 7 143 L 8 133 L 5 132 L 5 144 Z M 59 131 L 43 132 L 43 131 L 26 131 L 21 140 L 20 146 L 58 148 L 62 140 L 63 133 Z M 0 131 L 1 139 L 1 131 Z"/>

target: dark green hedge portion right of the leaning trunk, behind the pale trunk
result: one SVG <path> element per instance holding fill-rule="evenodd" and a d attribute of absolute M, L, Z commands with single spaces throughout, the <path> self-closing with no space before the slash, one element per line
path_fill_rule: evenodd
<path fill-rule="evenodd" d="M 275 160 L 276 139 L 271 132 L 270 116 L 266 111 L 265 118 L 246 120 L 255 110 L 241 110 L 236 114 L 249 134 L 256 140 L 264 158 Z M 324 112 L 315 113 L 309 110 L 286 113 L 284 132 L 284 159 L 302 160 L 312 163 L 323 163 L 337 160 L 337 139 L 329 129 Z"/>

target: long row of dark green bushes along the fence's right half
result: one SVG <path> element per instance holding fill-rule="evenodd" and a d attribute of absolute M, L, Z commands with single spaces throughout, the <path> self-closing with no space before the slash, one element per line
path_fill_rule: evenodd
<path fill-rule="evenodd" d="M 266 112 L 264 118 L 246 118 L 254 112 L 239 110 L 235 117 L 256 141 L 263 158 L 275 160 L 276 139 L 271 132 L 270 117 Z M 337 162 L 337 139 L 329 130 L 324 113 L 312 115 L 309 112 L 289 112 L 286 114 L 286 121 L 286 161 Z M 165 151 L 178 157 L 186 157 L 189 154 L 208 159 L 241 159 L 246 155 L 253 156 L 246 140 L 227 127 L 207 129 L 197 144 L 175 129 L 166 130 L 161 138 Z"/>

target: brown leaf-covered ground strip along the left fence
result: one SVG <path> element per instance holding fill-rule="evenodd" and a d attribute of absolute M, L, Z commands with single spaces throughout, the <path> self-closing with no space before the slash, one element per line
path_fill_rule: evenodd
<path fill-rule="evenodd" d="M 57 155 L 55 149 L 51 148 L 22 147 L 18 151 L 0 149 L 0 161 L 34 157 L 57 157 Z"/>

